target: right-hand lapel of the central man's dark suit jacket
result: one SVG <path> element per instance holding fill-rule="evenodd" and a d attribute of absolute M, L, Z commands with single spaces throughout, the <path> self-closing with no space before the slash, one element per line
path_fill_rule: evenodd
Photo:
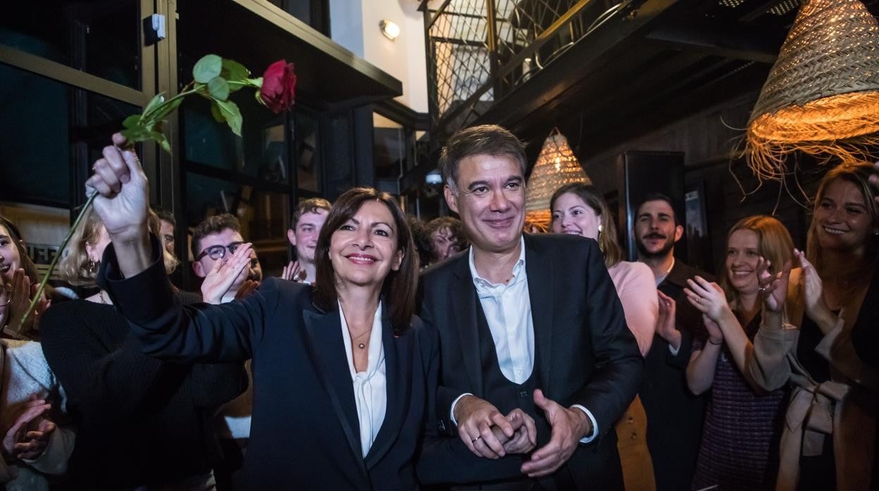
<path fill-rule="evenodd" d="M 549 368 L 552 366 L 553 331 L 553 271 L 552 262 L 539 250 L 540 244 L 525 235 L 525 271 L 528 275 L 528 298 L 531 300 L 531 320 L 534 323 L 534 343 L 537 353 L 541 386 L 549 386 Z"/>

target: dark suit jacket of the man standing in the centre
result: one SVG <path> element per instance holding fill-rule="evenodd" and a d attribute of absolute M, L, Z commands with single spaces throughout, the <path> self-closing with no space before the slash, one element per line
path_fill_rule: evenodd
<path fill-rule="evenodd" d="M 607 481 L 607 469 L 620 472 L 614 422 L 635 398 L 643 358 L 597 242 L 573 235 L 525 235 L 525 263 L 540 388 L 564 407 L 589 409 L 598 422 L 599 437 L 578 447 L 568 462 L 570 473 L 578 487 L 606 489 L 601 484 Z M 521 456 L 476 457 L 449 419 L 459 395 L 483 397 L 476 310 L 482 306 L 470 274 L 469 251 L 425 271 L 421 288 L 421 316 L 427 328 L 439 331 L 442 361 L 433 415 L 439 435 L 430 431 L 425 438 L 419 480 L 468 483 L 523 477 Z M 548 435 L 538 440 L 546 441 Z"/>

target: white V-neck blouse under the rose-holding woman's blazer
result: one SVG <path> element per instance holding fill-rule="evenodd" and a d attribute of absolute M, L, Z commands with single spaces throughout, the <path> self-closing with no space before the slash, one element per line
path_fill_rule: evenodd
<path fill-rule="evenodd" d="M 338 311 L 342 321 L 342 339 L 345 340 L 345 356 L 354 383 L 357 417 L 360 420 L 360 447 L 363 449 L 363 457 L 366 457 L 376 435 L 379 434 L 388 406 L 384 346 L 381 343 L 381 302 L 375 309 L 373 331 L 369 335 L 369 363 L 366 372 L 357 372 L 354 368 L 351 334 L 348 332 L 348 322 L 345 321 L 345 312 L 341 303 L 338 305 Z"/>

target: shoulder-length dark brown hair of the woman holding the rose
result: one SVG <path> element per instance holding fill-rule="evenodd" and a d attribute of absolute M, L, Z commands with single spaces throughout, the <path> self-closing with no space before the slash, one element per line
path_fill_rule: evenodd
<path fill-rule="evenodd" d="M 391 326 L 397 334 L 411 326 L 412 314 L 415 313 L 415 291 L 418 286 L 418 256 L 412 244 L 412 234 L 406 223 L 406 215 L 396 200 L 387 192 L 375 191 L 373 188 L 352 188 L 342 193 L 332 206 L 330 214 L 317 237 L 315 264 L 315 304 L 324 310 L 336 308 L 338 294 L 336 292 L 336 271 L 330 259 L 330 239 L 332 235 L 360 210 L 367 201 L 378 201 L 394 217 L 396 227 L 396 249 L 403 251 L 400 269 L 390 271 L 381 286 L 381 295 L 385 306 L 389 307 Z"/>

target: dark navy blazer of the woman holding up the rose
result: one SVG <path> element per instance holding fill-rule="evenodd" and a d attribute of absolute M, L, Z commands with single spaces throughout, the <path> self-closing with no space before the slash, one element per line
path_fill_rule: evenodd
<path fill-rule="evenodd" d="M 153 240 L 153 257 L 158 242 Z M 182 306 L 161 261 L 122 279 L 113 246 L 102 277 L 143 350 L 186 363 L 252 357 L 253 417 L 241 483 L 247 489 L 413 489 L 436 343 L 413 317 L 395 336 L 382 319 L 387 413 L 366 458 L 338 309 L 311 289 L 268 278 L 241 301 Z M 383 308 L 387 313 L 389 308 Z"/>

